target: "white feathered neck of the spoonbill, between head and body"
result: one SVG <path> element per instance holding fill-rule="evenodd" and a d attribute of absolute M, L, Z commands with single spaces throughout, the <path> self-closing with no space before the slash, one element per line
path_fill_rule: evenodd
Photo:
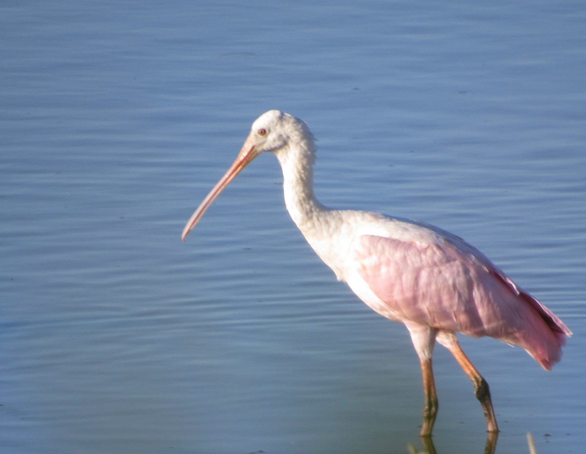
<path fill-rule="evenodd" d="M 291 218 L 307 237 L 316 228 L 319 218 L 328 208 L 314 194 L 314 146 L 310 141 L 289 144 L 277 158 L 283 171 L 285 206 Z"/>

